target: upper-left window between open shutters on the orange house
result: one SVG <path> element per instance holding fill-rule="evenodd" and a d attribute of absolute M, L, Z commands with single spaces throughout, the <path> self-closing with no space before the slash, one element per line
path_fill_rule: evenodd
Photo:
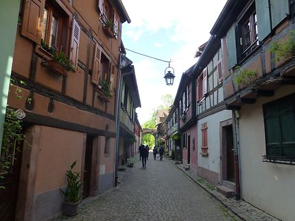
<path fill-rule="evenodd" d="M 46 1 L 41 34 L 43 43 L 66 53 L 68 27 L 69 16 L 58 5 L 54 5 L 51 1 Z"/>

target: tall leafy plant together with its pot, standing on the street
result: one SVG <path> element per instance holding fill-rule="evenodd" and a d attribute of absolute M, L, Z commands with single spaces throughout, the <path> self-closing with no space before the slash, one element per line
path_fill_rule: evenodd
<path fill-rule="evenodd" d="M 64 203 L 62 204 L 62 213 L 67 216 L 74 216 L 78 212 L 78 203 L 80 202 L 82 192 L 81 173 L 73 172 L 77 161 L 71 164 L 71 169 L 67 170 L 67 189 L 61 190 L 64 194 Z"/>

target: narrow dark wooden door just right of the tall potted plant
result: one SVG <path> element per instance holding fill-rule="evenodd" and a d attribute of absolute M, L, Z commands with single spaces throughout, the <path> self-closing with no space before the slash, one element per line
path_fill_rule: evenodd
<path fill-rule="evenodd" d="M 93 138 L 87 135 L 85 159 L 84 159 L 83 194 L 82 194 L 83 198 L 88 197 L 90 194 L 92 147 L 93 147 Z"/>

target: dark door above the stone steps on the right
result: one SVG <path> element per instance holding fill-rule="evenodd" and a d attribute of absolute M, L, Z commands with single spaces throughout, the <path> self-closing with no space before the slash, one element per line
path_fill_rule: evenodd
<path fill-rule="evenodd" d="M 235 182 L 235 166 L 233 160 L 233 127 L 226 127 L 226 169 L 227 169 L 227 180 Z"/>

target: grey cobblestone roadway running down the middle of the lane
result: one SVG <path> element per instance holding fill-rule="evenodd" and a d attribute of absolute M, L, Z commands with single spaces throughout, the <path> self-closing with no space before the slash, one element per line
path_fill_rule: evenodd
<path fill-rule="evenodd" d="M 137 159 L 119 172 L 119 186 L 88 200 L 74 217 L 60 220 L 240 220 L 222 203 L 178 170 L 169 159 Z"/>

